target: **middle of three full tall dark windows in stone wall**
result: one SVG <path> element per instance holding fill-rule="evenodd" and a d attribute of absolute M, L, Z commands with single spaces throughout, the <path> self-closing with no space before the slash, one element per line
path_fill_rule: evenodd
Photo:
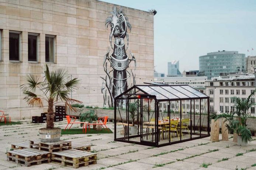
<path fill-rule="evenodd" d="M 38 35 L 28 34 L 28 61 L 37 61 Z"/>

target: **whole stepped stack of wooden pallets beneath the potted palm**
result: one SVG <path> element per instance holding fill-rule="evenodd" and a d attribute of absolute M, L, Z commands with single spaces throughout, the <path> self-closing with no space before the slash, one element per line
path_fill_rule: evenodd
<path fill-rule="evenodd" d="M 70 141 L 41 142 L 39 140 L 11 144 L 13 151 L 7 152 L 7 160 L 24 166 L 52 162 L 78 168 L 97 163 L 97 154 L 90 145 Z"/>

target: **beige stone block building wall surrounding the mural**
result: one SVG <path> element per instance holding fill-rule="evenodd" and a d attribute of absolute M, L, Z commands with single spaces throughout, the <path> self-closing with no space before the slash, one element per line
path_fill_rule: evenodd
<path fill-rule="evenodd" d="M 70 76 L 79 77 L 72 98 L 84 105 L 102 106 L 100 76 L 105 75 L 103 57 L 110 34 L 105 19 L 113 6 L 97 0 L 1 0 L 0 110 L 12 119 L 46 111 L 46 106 L 28 107 L 20 88 L 25 75 L 42 77 L 45 63 L 51 70 L 65 68 Z M 127 52 L 134 53 L 136 84 L 142 84 L 153 79 L 154 17 L 150 12 L 122 8 L 132 25 Z M 30 48 L 33 43 L 36 51 Z M 13 60 L 10 52 L 18 58 Z M 37 53 L 37 58 L 30 58 L 31 53 Z"/>

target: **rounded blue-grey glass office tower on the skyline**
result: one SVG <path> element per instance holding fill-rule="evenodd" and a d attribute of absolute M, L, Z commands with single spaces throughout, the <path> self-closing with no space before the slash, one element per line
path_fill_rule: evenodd
<path fill-rule="evenodd" d="M 230 73 L 245 72 L 245 67 L 245 54 L 239 54 L 238 51 L 224 50 L 199 57 L 200 75 L 205 75 L 208 79 Z"/>

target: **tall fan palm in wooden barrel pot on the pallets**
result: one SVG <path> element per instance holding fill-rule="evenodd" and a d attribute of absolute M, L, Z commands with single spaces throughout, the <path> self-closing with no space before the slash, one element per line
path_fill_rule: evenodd
<path fill-rule="evenodd" d="M 60 140 L 60 128 L 54 127 L 53 105 L 58 102 L 65 102 L 65 106 L 72 109 L 72 102 L 80 102 L 69 98 L 69 93 L 77 87 L 79 80 L 70 79 L 65 69 L 60 68 L 55 71 L 49 71 L 48 65 L 45 65 L 43 81 L 32 74 L 26 76 L 27 84 L 21 85 L 24 100 L 30 106 L 43 107 L 43 101 L 47 102 L 47 120 L 46 128 L 39 129 L 42 142 L 56 142 Z M 36 92 L 40 92 L 36 94 Z M 80 102 L 81 103 L 81 102 Z"/>

